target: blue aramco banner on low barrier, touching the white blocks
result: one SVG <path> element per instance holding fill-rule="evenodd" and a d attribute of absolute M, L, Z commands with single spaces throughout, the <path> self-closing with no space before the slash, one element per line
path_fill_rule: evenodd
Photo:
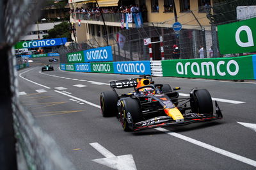
<path fill-rule="evenodd" d="M 135 75 L 151 75 L 150 61 L 114 62 L 114 72 Z"/>

